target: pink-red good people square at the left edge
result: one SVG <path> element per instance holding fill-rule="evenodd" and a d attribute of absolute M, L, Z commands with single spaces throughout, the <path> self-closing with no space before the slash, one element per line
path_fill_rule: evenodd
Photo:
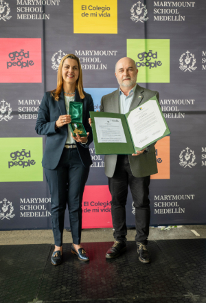
<path fill-rule="evenodd" d="M 0 82 L 41 83 L 41 38 L 0 38 Z"/>

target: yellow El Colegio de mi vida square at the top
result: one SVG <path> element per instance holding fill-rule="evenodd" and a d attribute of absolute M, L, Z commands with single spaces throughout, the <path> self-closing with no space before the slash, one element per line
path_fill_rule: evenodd
<path fill-rule="evenodd" d="M 73 0 L 74 34 L 117 34 L 117 0 Z"/>

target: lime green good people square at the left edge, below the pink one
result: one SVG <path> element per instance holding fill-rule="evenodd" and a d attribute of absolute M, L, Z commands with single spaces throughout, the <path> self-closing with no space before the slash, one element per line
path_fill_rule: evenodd
<path fill-rule="evenodd" d="M 0 138 L 0 182 L 43 181 L 43 139 Z"/>

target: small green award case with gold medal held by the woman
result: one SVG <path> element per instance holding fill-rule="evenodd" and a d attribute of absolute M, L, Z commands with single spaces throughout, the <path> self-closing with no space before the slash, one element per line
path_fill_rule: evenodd
<path fill-rule="evenodd" d="M 87 132 L 85 131 L 84 125 L 82 124 L 82 117 L 83 117 L 83 103 L 82 102 L 70 102 L 69 103 L 69 115 L 71 115 L 71 123 L 69 124 L 69 127 L 71 129 L 71 133 L 73 137 L 76 137 L 76 133 L 74 131 L 76 130 L 76 126 L 74 124 L 77 124 L 78 131 L 82 131 L 82 133 L 79 133 L 80 137 L 87 137 Z"/>

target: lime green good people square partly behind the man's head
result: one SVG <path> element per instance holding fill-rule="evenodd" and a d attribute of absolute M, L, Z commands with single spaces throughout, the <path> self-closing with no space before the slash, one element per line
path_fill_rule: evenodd
<path fill-rule="evenodd" d="M 138 83 L 170 83 L 170 39 L 127 39 L 126 49 L 139 69 Z"/>

